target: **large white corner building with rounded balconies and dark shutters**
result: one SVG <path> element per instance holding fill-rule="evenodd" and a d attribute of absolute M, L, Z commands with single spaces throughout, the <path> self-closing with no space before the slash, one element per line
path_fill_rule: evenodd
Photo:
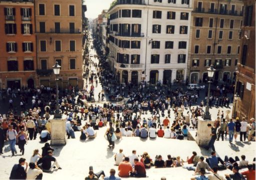
<path fill-rule="evenodd" d="M 121 83 L 185 80 L 189 0 L 117 0 L 109 9 L 109 63 Z"/>

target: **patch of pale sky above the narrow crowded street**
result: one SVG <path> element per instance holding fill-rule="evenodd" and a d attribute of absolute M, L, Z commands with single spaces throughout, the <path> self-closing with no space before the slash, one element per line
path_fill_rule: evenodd
<path fill-rule="evenodd" d="M 108 9 L 113 0 L 85 0 L 87 11 L 85 17 L 96 18 L 103 9 Z"/>

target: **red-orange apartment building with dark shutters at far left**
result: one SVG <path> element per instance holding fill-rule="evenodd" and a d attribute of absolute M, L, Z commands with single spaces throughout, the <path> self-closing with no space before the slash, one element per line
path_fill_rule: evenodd
<path fill-rule="evenodd" d="M 0 89 L 34 88 L 36 42 L 33 0 L 0 0 Z"/>

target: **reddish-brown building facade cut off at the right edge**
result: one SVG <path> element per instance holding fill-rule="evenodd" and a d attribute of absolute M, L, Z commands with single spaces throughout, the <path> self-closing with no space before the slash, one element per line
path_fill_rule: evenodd
<path fill-rule="evenodd" d="M 255 0 L 243 0 L 244 14 L 241 27 L 240 55 L 236 71 L 233 102 L 236 117 L 255 118 Z"/>

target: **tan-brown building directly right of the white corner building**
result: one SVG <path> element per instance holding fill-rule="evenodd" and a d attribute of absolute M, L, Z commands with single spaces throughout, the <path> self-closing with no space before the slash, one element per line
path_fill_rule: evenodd
<path fill-rule="evenodd" d="M 241 0 L 194 0 L 188 50 L 189 83 L 207 81 L 214 65 L 215 82 L 235 82 L 240 45 Z"/>

